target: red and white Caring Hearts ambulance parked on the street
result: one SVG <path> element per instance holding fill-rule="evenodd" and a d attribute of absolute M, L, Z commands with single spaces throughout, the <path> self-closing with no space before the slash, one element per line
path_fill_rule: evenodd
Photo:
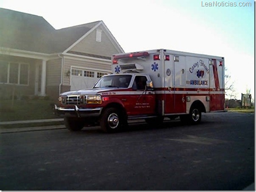
<path fill-rule="evenodd" d="M 100 125 L 116 132 L 128 120 L 160 125 L 164 118 L 197 124 L 202 113 L 224 111 L 224 58 L 174 50 L 112 56 L 112 73 L 91 89 L 59 95 L 56 114 L 70 131 Z"/>

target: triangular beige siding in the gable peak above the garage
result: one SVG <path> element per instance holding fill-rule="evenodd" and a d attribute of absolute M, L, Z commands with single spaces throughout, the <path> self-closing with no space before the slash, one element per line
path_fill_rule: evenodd
<path fill-rule="evenodd" d="M 96 41 L 96 31 L 101 30 L 101 42 Z M 115 48 L 114 44 L 110 41 L 106 32 L 100 26 L 86 36 L 79 42 L 71 51 L 90 53 L 99 56 L 111 57 L 119 51 Z"/>

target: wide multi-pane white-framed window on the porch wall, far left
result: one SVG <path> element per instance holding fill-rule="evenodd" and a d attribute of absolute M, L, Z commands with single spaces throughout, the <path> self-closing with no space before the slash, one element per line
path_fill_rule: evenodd
<path fill-rule="evenodd" d="M 29 65 L 0 61 L 0 83 L 28 85 Z"/>

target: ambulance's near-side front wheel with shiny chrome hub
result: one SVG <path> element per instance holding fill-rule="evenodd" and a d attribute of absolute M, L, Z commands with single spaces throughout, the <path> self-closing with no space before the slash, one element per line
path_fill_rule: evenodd
<path fill-rule="evenodd" d="M 100 126 L 104 132 L 115 133 L 126 126 L 127 120 L 118 109 L 108 108 L 105 109 L 101 115 Z"/>

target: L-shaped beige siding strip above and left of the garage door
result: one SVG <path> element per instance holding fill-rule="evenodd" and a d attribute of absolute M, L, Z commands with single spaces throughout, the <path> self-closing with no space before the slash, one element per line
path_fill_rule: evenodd
<path fill-rule="evenodd" d="M 98 72 L 111 72 L 111 61 L 96 61 L 96 60 L 90 60 L 90 59 L 71 59 L 71 58 L 65 58 L 65 64 L 64 64 L 64 74 L 66 74 L 68 71 L 71 71 L 72 67 L 80 67 L 84 70 L 95 70 Z M 70 76 L 64 75 L 63 77 L 63 85 L 70 85 Z"/>

